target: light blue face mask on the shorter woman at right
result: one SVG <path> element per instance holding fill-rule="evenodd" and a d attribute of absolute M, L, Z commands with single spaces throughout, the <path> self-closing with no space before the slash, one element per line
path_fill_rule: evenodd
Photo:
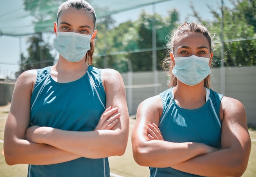
<path fill-rule="evenodd" d="M 194 86 L 204 80 L 207 75 L 211 74 L 209 58 L 195 55 L 177 57 L 175 58 L 175 66 L 172 72 L 182 83 Z"/>

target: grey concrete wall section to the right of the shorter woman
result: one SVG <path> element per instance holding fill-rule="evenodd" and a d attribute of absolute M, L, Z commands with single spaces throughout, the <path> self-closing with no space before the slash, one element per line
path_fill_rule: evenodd
<path fill-rule="evenodd" d="M 220 92 L 220 69 L 212 72 L 213 90 Z M 256 126 L 256 67 L 225 68 L 225 96 L 243 103 L 247 124 Z"/>

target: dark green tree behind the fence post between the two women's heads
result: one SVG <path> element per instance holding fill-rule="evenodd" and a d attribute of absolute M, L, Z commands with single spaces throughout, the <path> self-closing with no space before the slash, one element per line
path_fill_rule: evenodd
<path fill-rule="evenodd" d="M 128 33 L 130 40 L 126 42 L 126 50 L 132 63 L 133 71 L 152 71 L 152 27 L 155 20 L 157 31 L 157 70 L 161 70 L 162 60 L 165 58 L 166 36 L 177 27 L 179 15 L 177 10 L 169 11 L 167 18 L 162 18 L 159 14 L 148 14 L 142 11 L 139 20 L 135 22 L 135 27 Z"/>

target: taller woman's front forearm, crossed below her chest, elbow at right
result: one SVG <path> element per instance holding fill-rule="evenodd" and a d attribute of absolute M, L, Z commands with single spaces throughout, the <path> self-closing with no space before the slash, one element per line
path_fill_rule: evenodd
<path fill-rule="evenodd" d="M 126 133 L 116 130 L 97 131 L 63 131 L 47 128 L 47 136 L 40 136 L 45 144 L 87 158 L 103 158 L 113 155 L 123 155 L 126 149 Z"/>

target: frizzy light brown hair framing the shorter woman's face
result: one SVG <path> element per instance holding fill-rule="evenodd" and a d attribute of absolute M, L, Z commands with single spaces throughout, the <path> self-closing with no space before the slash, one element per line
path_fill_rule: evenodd
<path fill-rule="evenodd" d="M 209 31 L 206 29 L 206 27 L 204 27 L 202 24 L 198 24 L 196 22 L 191 22 L 191 23 L 184 23 L 180 27 L 178 27 L 178 29 L 175 31 L 175 33 L 171 37 L 169 36 L 169 40 L 166 44 L 166 46 L 167 46 L 166 58 L 162 62 L 162 68 L 164 69 L 164 71 L 166 71 L 167 75 L 169 75 L 171 77 L 171 80 L 168 85 L 169 87 L 177 85 L 177 78 L 172 73 L 174 66 L 172 66 L 172 64 L 171 64 L 170 53 L 173 53 L 174 44 L 175 44 L 177 38 L 184 34 L 191 33 L 191 32 L 202 33 L 209 41 L 210 53 L 213 50 L 212 37 L 211 37 Z M 206 87 L 206 88 L 210 87 L 210 75 L 208 75 L 204 79 L 204 87 Z"/>

